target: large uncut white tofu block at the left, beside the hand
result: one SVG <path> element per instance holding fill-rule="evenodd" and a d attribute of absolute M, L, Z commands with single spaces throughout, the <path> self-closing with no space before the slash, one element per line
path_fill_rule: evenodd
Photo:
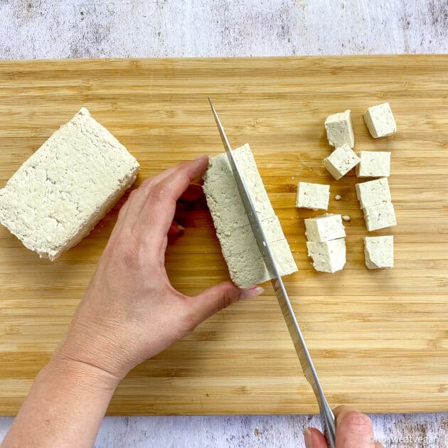
<path fill-rule="evenodd" d="M 0 190 L 0 223 L 55 260 L 90 233 L 138 171 L 134 156 L 82 107 Z"/>

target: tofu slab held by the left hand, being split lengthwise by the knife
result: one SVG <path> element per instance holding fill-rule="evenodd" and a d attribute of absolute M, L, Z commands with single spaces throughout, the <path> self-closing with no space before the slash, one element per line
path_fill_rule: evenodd
<path fill-rule="evenodd" d="M 257 216 L 262 222 L 267 240 L 272 246 L 279 270 L 282 275 L 292 274 L 297 271 L 297 265 L 284 238 L 282 226 L 270 204 L 250 146 L 245 144 L 235 149 L 233 155 L 257 210 Z M 266 270 L 252 234 L 227 154 L 211 157 L 203 178 L 203 190 L 230 278 L 240 288 L 272 278 Z"/>

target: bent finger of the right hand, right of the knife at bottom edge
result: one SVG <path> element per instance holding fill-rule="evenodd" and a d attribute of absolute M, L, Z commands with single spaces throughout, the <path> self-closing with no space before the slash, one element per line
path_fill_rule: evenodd
<path fill-rule="evenodd" d="M 336 448 L 375 448 L 372 421 L 353 407 L 338 406 L 336 417 Z"/>

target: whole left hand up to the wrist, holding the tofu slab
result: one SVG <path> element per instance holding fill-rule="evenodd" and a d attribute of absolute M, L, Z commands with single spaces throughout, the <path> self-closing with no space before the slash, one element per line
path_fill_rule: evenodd
<path fill-rule="evenodd" d="M 176 201 L 207 164 L 202 156 L 132 191 L 55 357 L 105 370 L 118 382 L 212 314 L 262 292 L 228 281 L 188 297 L 169 282 L 164 261 L 167 234 L 178 231 Z"/>

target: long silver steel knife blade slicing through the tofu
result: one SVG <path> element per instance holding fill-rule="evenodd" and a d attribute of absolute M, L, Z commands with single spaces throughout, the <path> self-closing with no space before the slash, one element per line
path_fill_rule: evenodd
<path fill-rule="evenodd" d="M 249 219 L 250 227 L 252 228 L 252 233 L 254 234 L 257 246 L 261 252 L 262 259 L 265 262 L 266 269 L 270 273 L 270 277 L 272 277 L 272 287 L 274 288 L 275 295 L 277 296 L 280 309 L 282 309 L 282 314 L 287 324 L 287 329 L 289 331 L 289 335 L 292 338 L 292 342 L 297 352 L 297 356 L 299 357 L 300 365 L 302 366 L 305 378 L 311 385 L 311 388 L 314 391 L 314 395 L 316 396 L 316 400 L 319 404 L 321 420 L 324 426 L 324 432 L 326 435 L 327 442 L 329 443 L 330 448 L 335 448 L 336 427 L 335 427 L 334 414 L 331 411 L 329 403 L 326 401 L 324 391 L 321 388 L 321 384 L 319 382 L 316 369 L 314 368 L 314 363 L 311 360 L 308 348 L 306 347 L 302 331 L 300 330 L 299 323 L 297 322 L 296 316 L 294 314 L 294 309 L 292 308 L 292 304 L 289 300 L 287 291 L 284 287 L 282 277 L 279 274 L 277 262 L 275 261 L 274 256 L 272 255 L 270 244 L 267 241 L 265 232 L 260 223 L 260 219 L 258 218 L 257 212 L 255 210 L 255 206 L 252 203 L 252 199 L 250 198 L 250 194 L 247 190 L 244 177 L 242 176 L 241 171 L 238 168 L 238 164 L 235 161 L 235 157 L 233 155 L 233 149 L 230 146 L 227 135 L 225 134 L 223 124 L 221 124 L 220 119 L 218 117 L 218 113 L 216 112 L 215 107 L 213 106 L 213 103 L 211 102 L 210 98 L 208 98 L 208 102 L 210 103 L 210 107 L 213 112 L 213 117 L 215 118 L 216 126 L 218 127 L 220 138 L 225 148 L 225 153 L 228 156 L 230 169 L 232 170 L 235 182 L 238 186 L 238 192 L 240 193 L 242 204 L 247 213 L 247 218 Z"/>

